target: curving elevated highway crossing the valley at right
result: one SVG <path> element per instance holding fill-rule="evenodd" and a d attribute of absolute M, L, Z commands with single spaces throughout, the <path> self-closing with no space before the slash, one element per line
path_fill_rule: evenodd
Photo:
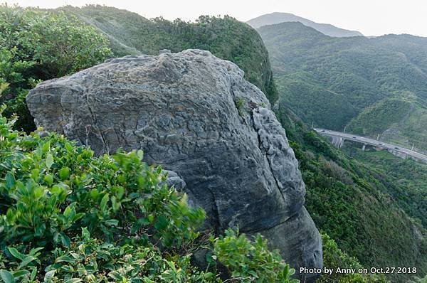
<path fill-rule="evenodd" d="M 343 132 L 331 131 L 330 129 L 319 129 L 313 128 L 319 134 L 324 134 L 326 136 L 338 137 L 342 139 L 347 139 L 349 141 L 360 142 L 362 144 L 370 144 L 373 146 L 378 146 L 383 149 L 388 149 L 390 151 L 395 151 L 401 154 L 406 154 L 408 156 L 412 156 L 416 159 L 420 159 L 422 161 L 427 162 L 427 155 L 420 154 L 416 151 L 412 151 L 411 149 L 405 149 L 404 147 L 397 146 L 395 144 L 387 144 L 386 142 L 377 141 L 376 139 L 370 139 L 368 137 L 357 136 L 356 134 L 345 134 Z"/>

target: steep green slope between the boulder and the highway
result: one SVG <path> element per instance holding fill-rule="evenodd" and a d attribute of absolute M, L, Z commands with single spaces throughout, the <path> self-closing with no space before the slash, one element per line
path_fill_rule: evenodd
<path fill-rule="evenodd" d="M 417 274 L 389 274 L 392 282 L 425 276 L 427 214 L 421 209 L 425 187 L 396 182 L 387 171 L 394 165 L 372 170 L 369 164 L 349 158 L 312 132 L 284 103 L 276 114 L 300 161 L 307 210 L 317 228 L 364 267 L 418 268 Z M 425 173 L 417 170 L 418 182 L 425 181 Z"/>

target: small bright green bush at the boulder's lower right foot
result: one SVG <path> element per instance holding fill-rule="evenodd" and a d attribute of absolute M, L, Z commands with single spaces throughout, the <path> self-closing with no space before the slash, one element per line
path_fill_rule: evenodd
<path fill-rule="evenodd" d="M 254 242 L 231 229 L 212 240 L 214 257 L 231 272 L 238 282 L 298 282 L 290 279 L 295 273 L 283 262 L 278 251 L 270 252 L 267 240 L 257 235 Z"/>

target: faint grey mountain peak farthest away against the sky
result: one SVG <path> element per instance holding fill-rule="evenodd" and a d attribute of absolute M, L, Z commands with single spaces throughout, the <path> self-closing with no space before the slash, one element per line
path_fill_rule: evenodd
<path fill-rule="evenodd" d="M 344 28 L 337 28 L 332 26 L 329 23 L 315 23 L 314 21 L 307 20 L 307 18 L 301 18 L 300 16 L 295 16 L 294 14 L 289 13 L 272 13 L 253 18 L 250 21 L 247 21 L 249 25 L 253 28 L 260 28 L 261 26 L 273 25 L 275 23 L 285 23 L 290 21 L 299 21 L 305 26 L 310 26 L 316 31 L 327 36 L 334 36 L 338 38 L 344 38 L 349 36 L 363 36 L 359 31 L 349 31 Z"/>

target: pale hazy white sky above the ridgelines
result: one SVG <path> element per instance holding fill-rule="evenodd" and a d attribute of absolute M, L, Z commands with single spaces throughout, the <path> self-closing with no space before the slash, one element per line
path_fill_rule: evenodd
<path fill-rule="evenodd" d="M 147 18 L 194 20 L 201 14 L 234 16 L 241 21 L 271 12 L 286 12 L 318 23 L 332 23 L 365 36 L 411 33 L 427 36 L 426 0 L 6 0 L 8 4 L 56 8 L 105 4 Z"/>

